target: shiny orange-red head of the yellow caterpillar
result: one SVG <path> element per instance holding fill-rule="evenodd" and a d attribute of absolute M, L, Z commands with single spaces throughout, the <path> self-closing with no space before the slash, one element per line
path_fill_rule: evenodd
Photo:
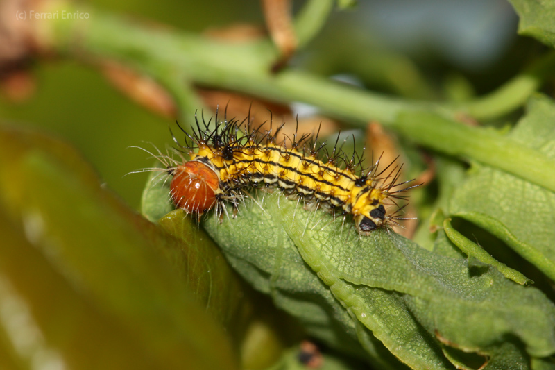
<path fill-rule="evenodd" d="M 203 162 L 190 160 L 171 169 L 171 198 L 176 207 L 198 217 L 210 210 L 221 192 L 216 172 Z"/>

